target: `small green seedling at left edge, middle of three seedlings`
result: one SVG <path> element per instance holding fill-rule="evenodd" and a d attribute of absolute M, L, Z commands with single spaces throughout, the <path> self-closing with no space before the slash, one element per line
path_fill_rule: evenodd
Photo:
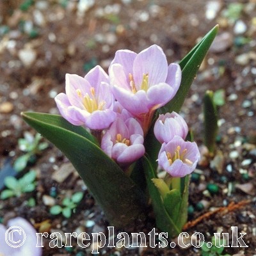
<path fill-rule="evenodd" d="M 8 176 L 4 179 L 4 185 L 7 189 L 4 189 L 0 195 L 1 199 L 7 199 L 13 196 L 21 196 L 23 193 L 31 192 L 36 187 L 36 172 L 31 170 L 26 173 L 20 179 Z"/>

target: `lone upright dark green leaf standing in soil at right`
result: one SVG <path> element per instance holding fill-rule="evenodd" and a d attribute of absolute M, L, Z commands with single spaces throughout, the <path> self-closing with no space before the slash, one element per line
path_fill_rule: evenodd
<path fill-rule="evenodd" d="M 213 101 L 213 92 L 207 91 L 204 96 L 204 143 L 210 153 L 214 153 L 218 134 L 218 113 Z"/>

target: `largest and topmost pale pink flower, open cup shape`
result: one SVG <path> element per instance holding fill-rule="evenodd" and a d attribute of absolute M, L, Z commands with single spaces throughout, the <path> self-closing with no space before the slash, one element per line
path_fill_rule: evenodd
<path fill-rule="evenodd" d="M 109 78 L 116 100 L 141 118 L 173 98 L 180 86 L 181 70 L 175 63 L 168 66 L 161 47 L 152 45 L 139 54 L 117 51 Z"/>

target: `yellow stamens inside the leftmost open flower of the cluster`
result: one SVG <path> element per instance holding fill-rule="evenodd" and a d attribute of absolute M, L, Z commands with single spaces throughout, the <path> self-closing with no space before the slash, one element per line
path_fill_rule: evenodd
<path fill-rule="evenodd" d="M 78 97 L 82 98 L 82 103 L 83 103 L 84 108 L 89 113 L 92 113 L 93 111 L 96 111 L 96 110 L 103 110 L 106 102 L 104 100 L 102 100 L 98 104 L 97 99 L 95 98 L 95 89 L 94 89 L 94 87 L 90 88 L 90 92 L 91 92 L 91 97 L 88 93 L 83 95 L 80 89 L 76 90 L 76 93 L 77 93 Z"/>

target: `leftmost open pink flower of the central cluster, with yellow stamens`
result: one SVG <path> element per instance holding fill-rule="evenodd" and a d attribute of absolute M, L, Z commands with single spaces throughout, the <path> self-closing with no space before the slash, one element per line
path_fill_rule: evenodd
<path fill-rule="evenodd" d="M 86 76 L 66 74 L 66 94 L 55 97 L 61 115 L 74 125 L 102 130 L 115 120 L 114 97 L 106 72 L 97 66 Z"/>

